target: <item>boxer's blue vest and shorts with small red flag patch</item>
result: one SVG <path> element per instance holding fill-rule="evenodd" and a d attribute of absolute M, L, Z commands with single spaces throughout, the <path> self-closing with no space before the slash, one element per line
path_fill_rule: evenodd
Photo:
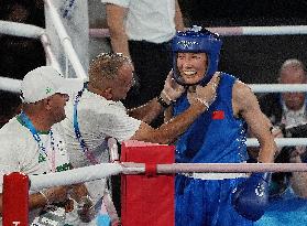
<path fill-rule="evenodd" d="M 240 163 L 246 160 L 245 121 L 232 112 L 235 78 L 221 74 L 215 103 L 176 142 L 177 163 Z M 189 107 L 186 94 L 174 104 L 174 116 Z M 176 226 L 245 226 L 251 220 L 231 205 L 232 191 L 245 177 L 202 180 L 176 175 Z"/>

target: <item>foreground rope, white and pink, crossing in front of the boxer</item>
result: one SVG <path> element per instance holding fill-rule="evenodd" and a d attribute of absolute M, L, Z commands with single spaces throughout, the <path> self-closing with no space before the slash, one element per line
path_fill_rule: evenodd
<path fill-rule="evenodd" d="M 239 173 L 239 172 L 306 172 L 306 163 L 174 163 L 157 164 L 157 173 Z M 57 185 L 70 185 L 116 174 L 140 174 L 145 172 L 144 163 L 101 163 L 58 173 L 29 175 L 31 191 Z"/>

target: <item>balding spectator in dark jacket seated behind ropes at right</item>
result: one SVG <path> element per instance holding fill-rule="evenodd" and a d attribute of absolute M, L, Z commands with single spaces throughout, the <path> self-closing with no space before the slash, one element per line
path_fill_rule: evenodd
<path fill-rule="evenodd" d="M 283 63 L 278 74 L 279 84 L 306 84 L 305 65 L 289 58 Z M 267 94 L 260 98 L 262 111 L 275 126 L 275 137 L 284 137 L 281 128 L 293 128 L 307 123 L 306 93 Z M 285 130 L 284 130 L 285 131 Z M 301 134 L 300 137 L 306 137 Z M 306 147 L 285 147 L 276 157 L 275 162 L 307 162 Z M 305 172 L 274 173 L 272 175 L 271 195 L 281 195 L 292 184 L 294 192 L 307 197 L 307 180 Z"/>

